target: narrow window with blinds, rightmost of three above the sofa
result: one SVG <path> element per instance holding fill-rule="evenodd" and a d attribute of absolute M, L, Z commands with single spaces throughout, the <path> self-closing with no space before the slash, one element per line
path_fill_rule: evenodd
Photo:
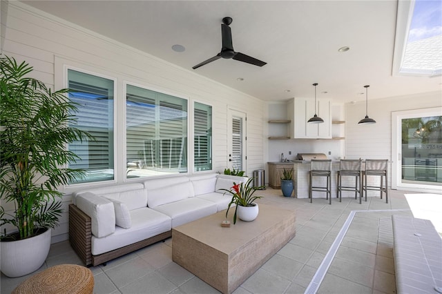
<path fill-rule="evenodd" d="M 195 102 L 193 110 L 194 171 L 212 169 L 212 106 Z"/>

